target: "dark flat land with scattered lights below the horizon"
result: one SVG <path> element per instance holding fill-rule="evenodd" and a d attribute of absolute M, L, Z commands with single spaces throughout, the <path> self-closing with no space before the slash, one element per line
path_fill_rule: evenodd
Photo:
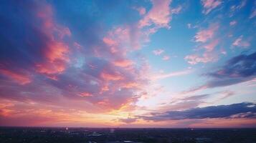
<path fill-rule="evenodd" d="M 0 127 L 0 142 L 255 142 L 256 129 Z"/>

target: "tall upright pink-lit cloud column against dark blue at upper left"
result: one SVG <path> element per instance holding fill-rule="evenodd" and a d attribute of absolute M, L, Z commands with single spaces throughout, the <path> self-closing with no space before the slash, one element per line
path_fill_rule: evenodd
<path fill-rule="evenodd" d="M 71 36 L 70 29 L 62 27 L 54 22 L 52 6 L 45 4 L 42 6 L 44 9 L 38 9 L 36 12 L 37 18 L 42 20 L 42 25 L 39 27 L 49 41 L 42 54 L 45 60 L 35 65 L 37 72 L 46 74 L 51 79 L 56 79 L 53 74 L 60 74 L 66 69 L 69 57 L 69 47 L 62 39 L 64 36 Z"/>

